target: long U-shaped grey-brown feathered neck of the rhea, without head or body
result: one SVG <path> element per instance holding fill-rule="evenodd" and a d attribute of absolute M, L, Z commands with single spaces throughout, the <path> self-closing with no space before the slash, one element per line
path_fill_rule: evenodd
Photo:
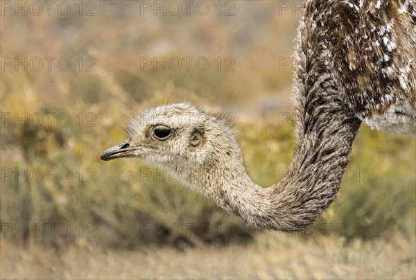
<path fill-rule="evenodd" d="M 316 30 L 320 14 L 308 15 L 318 8 L 306 8 L 308 20 L 300 24 L 293 100 L 298 123 L 288 174 L 263 189 L 236 163 L 230 170 L 216 170 L 212 177 L 223 179 L 213 182 L 210 177 L 211 186 L 204 190 L 254 227 L 297 231 L 318 218 L 338 195 L 360 125 L 331 70 L 328 34 Z"/>

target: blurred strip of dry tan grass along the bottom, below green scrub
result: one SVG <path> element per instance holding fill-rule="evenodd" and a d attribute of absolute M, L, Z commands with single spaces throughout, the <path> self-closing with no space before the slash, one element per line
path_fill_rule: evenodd
<path fill-rule="evenodd" d="M 343 238 L 302 241 L 262 233 L 248 245 L 105 250 L 87 244 L 59 252 L 1 244 L 1 277 L 94 279 L 415 279 L 415 243 L 391 240 L 345 246 Z"/>

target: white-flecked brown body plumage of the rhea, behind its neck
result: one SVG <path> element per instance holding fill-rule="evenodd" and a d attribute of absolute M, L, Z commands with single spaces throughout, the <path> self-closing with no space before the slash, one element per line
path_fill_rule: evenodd
<path fill-rule="evenodd" d="M 312 1 L 335 76 L 362 121 L 416 134 L 416 2 Z M 322 25 L 323 24 L 323 25 Z"/>

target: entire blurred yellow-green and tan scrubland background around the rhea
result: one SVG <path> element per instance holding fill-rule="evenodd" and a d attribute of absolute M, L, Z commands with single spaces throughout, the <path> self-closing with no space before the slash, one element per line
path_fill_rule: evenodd
<path fill-rule="evenodd" d="M 416 139 L 361 128 L 306 231 L 256 231 L 139 159 L 146 107 L 232 116 L 248 173 L 291 161 L 302 1 L 1 1 L 1 278 L 416 278 Z"/>

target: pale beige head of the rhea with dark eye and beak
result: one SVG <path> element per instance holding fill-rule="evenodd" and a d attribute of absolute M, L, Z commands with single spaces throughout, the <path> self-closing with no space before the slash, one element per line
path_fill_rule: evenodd
<path fill-rule="evenodd" d="M 230 166 L 230 161 L 242 165 L 229 119 L 193 105 L 177 103 L 146 110 L 131 119 L 125 131 L 128 139 L 105 150 L 101 159 L 139 157 L 166 168 L 188 185 L 194 184 L 184 170 L 209 173 Z"/>

